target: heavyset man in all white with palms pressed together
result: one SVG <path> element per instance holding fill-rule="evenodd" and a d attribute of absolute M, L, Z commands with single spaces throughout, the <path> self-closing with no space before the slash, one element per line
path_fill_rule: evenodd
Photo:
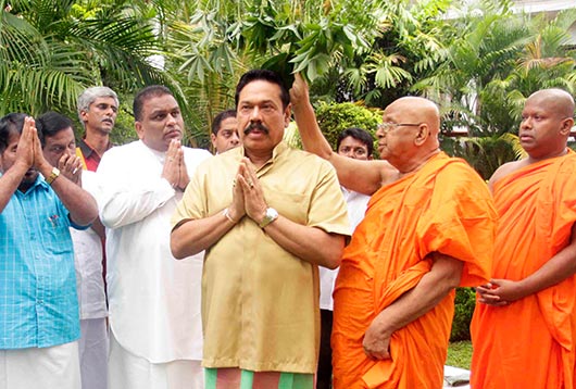
<path fill-rule="evenodd" d="M 170 89 L 134 98 L 138 141 L 107 151 L 98 175 L 107 234 L 111 389 L 202 388 L 199 310 L 202 255 L 175 261 L 170 217 L 197 165 Z"/>

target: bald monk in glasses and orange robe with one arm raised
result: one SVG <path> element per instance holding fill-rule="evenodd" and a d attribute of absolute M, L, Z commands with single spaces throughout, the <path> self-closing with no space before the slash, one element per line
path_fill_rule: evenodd
<path fill-rule="evenodd" d="M 388 105 L 376 133 L 387 162 L 365 162 L 331 151 L 300 76 L 290 92 L 304 148 L 345 187 L 374 193 L 336 281 L 335 388 L 441 388 L 454 288 L 490 275 L 497 214 L 486 184 L 439 150 L 429 100 Z"/>

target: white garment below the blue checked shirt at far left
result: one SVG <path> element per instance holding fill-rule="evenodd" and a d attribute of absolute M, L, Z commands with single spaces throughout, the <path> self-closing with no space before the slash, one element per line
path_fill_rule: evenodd
<path fill-rule="evenodd" d="M 0 350 L 0 389 L 80 389 L 78 342 Z"/>

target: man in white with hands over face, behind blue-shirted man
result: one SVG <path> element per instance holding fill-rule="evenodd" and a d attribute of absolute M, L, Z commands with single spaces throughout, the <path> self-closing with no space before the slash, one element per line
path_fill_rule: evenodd
<path fill-rule="evenodd" d="M 36 120 L 42 153 L 60 173 L 98 199 L 96 173 L 83 171 L 76 155 L 72 121 L 57 112 L 47 112 Z M 108 388 L 108 328 L 107 297 L 102 278 L 103 227 L 97 219 L 88 229 L 71 228 L 74 244 L 74 267 L 78 306 L 80 309 L 80 339 L 78 353 L 83 389 Z"/>

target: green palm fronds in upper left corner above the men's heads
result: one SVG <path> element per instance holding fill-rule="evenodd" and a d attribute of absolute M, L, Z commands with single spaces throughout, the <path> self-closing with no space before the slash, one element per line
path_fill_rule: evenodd
<path fill-rule="evenodd" d="M 95 85 L 120 95 L 148 84 L 178 92 L 150 61 L 161 52 L 154 17 L 128 1 L 1 0 L 0 5 L 0 114 L 55 110 L 76 118 L 77 96 Z"/>

